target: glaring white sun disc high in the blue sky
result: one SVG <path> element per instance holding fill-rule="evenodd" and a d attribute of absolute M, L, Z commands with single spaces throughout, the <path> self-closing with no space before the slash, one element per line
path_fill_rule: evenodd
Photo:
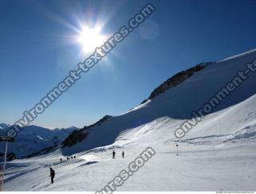
<path fill-rule="evenodd" d="M 96 26 L 94 28 L 83 27 L 78 34 L 78 43 L 82 46 L 82 51 L 90 53 L 98 46 L 102 46 L 106 41 L 106 36 L 101 34 L 101 28 Z"/>

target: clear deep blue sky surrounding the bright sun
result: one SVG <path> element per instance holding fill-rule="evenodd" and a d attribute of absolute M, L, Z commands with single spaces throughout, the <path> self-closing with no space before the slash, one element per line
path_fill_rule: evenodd
<path fill-rule="evenodd" d="M 14 124 L 89 53 L 84 25 L 110 36 L 148 1 L 0 1 L 0 123 Z M 139 105 L 167 78 L 255 48 L 256 1 L 150 1 L 156 11 L 32 123 L 83 127 Z"/>

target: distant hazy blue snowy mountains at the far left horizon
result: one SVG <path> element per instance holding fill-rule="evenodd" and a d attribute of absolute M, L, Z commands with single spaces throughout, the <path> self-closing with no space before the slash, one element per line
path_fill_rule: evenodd
<path fill-rule="evenodd" d="M 2 125 L 2 134 L 10 125 Z M 67 129 L 46 129 L 43 127 L 29 125 L 23 127 L 14 143 L 8 148 L 8 153 L 13 153 L 17 158 L 29 156 L 45 148 L 60 145 L 74 130 L 78 128 L 70 127 Z M 4 152 L 5 143 L 0 142 L 0 152 Z"/>

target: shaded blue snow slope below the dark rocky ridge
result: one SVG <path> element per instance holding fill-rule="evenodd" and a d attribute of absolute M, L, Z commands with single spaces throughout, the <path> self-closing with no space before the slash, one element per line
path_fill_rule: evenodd
<path fill-rule="evenodd" d="M 185 80 L 181 80 L 174 87 L 167 87 L 164 92 L 160 89 L 158 95 L 153 95 L 152 99 L 134 109 L 111 117 L 110 120 L 100 126 L 94 126 L 85 140 L 80 140 L 77 144 L 68 148 L 62 148 L 62 153 L 71 154 L 111 145 L 124 131 L 146 125 L 161 117 L 169 117 L 174 121 L 190 119 L 194 110 L 202 107 L 210 97 L 213 97 L 219 89 L 224 87 L 239 70 L 244 69 L 246 64 L 253 61 L 254 58 L 256 58 L 256 49 L 222 61 L 209 62 L 209 64 L 202 63 L 207 64 L 206 67 L 193 72 L 190 77 L 185 76 Z M 256 89 L 253 87 L 255 81 L 254 75 L 250 76 L 245 84 L 241 85 L 235 93 L 230 93 L 225 101 L 213 109 L 211 113 L 237 105 L 253 96 L 256 93 Z"/>

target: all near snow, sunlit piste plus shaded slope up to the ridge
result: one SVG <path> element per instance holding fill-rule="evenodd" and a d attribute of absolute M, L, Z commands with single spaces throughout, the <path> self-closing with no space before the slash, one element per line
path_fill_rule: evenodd
<path fill-rule="evenodd" d="M 186 137 L 174 136 L 194 109 L 254 58 L 256 50 L 216 62 L 153 100 L 90 129 L 86 140 L 70 148 L 11 161 L 6 191 L 99 191 L 149 146 L 156 155 L 117 191 L 255 191 L 253 73 Z M 113 150 L 115 160 L 111 159 Z M 125 159 L 121 158 L 123 150 Z M 66 161 L 66 155 L 74 154 L 76 159 Z M 54 184 L 50 184 L 50 167 L 56 172 Z"/>

